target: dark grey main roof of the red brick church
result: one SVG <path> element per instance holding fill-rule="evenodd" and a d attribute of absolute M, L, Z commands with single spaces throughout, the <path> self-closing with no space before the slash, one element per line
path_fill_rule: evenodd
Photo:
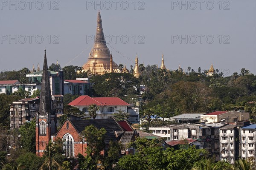
<path fill-rule="evenodd" d="M 87 120 L 70 120 L 75 126 L 76 130 L 81 133 L 86 126 L 93 125 L 100 128 L 105 128 L 107 131 L 105 135 L 105 144 L 111 140 L 116 141 L 115 131 L 123 131 L 122 127 L 118 125 L 115 119 L 87 119 Z"/>

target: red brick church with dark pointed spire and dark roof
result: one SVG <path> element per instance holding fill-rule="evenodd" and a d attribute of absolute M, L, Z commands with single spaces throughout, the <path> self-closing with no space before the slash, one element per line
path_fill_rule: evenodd
<path fill-rule="evenodd" d="M 67 119 L 57 132 L 57 115 L 52 110 L 52 96 L 50 93 L 49 74 L 47 66 L 46 50 L 44 53 L 44 67 L 42 75 L 41 99 L 39 112 L 36 113 L 36 154 L 43 156 L 44 150 L 50 140 L 61 139 L 64 142 L 65 156 L 76 158 L 79 153 L 85 155 L 87 147 L 86 139 L 80 135 L 81 131 L 88 125 L 97 128 L 104 127 L 107 131 L 105 144 L 119 141 L 123 144 L 122 153 L 133 152 L 132 148 L 126 148 L 126 144 L 134 140 L 138 133 L 133 130 L 128 122 L 117 122 L 115 119 L 87 119 L 69 120 Z"/>

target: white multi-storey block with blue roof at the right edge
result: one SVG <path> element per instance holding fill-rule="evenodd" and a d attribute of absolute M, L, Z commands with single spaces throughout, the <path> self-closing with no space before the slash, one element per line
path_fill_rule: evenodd
<path fill-rule="evenodd" d="M 256 125 L 245 125 L 241 127 L 241 158 L 256 157 Z"/>

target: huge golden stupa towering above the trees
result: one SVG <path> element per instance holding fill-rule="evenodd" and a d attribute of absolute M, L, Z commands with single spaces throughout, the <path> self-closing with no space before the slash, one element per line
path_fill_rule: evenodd
<path fill-rule="evenodd" d="M 113 62 L 110 51 L 106 45 L 100 12 L 98 12 L 97 17 L 97 28 L 94 45 L 90 51 L 87 62 L 83 65 L 83 71 L 88 70 L 90 70 L 91 74 L 99 75 L 111 72 L 121 72 L 118 65 Z"/>

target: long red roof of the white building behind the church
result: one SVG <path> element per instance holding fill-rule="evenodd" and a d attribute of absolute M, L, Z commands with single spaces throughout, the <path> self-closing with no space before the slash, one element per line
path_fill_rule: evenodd
<path fill-rule="evenodd" d="M 97 106 L 129 106 L 128 103 L 118 97 L 90 97 L 87 95 L 79 96 L 69 103 L 71 106 L 89 106 L 91 104 Z"/>

